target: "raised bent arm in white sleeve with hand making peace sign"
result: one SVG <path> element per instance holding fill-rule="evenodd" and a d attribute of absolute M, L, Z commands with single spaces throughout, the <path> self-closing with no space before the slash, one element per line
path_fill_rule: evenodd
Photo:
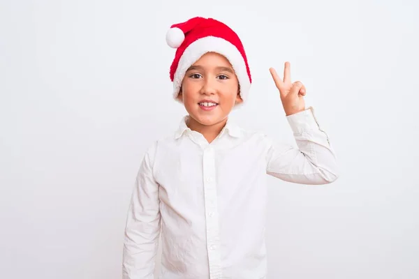
<path fill-rule="evenodd" d="M 335 152 L 328 135 L 318 126 L 313 108 L 305 109 L 305 86 L 301 82 L 291 82 L 290 68 L 290 63 L 286 62 L 284 80 L 279 78 L 274 68 L 270 68 L 270 73 L 279 90 L 298 149 L 284 144 L 270 145 L 267 174 L 294 183 L 331 183 L 337 179 Z"/>

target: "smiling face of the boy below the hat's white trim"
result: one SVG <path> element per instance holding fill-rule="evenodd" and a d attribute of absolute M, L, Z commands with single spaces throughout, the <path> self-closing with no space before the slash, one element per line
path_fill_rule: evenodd
<path fill-rule="evenodd" d="M 178 98 L 198 123 L 211 126 L 225 120 L 242 103 L 239 82 L 226 57 L 208 52 L 186 71 Z"/>

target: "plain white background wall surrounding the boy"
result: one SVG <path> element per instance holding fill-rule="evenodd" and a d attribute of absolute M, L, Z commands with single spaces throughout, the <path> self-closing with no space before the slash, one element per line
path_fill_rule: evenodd
<path fill-rule="evenodd" d="M 417 1 L 1 0 L 0 278 L 121 277 L 142 156 L 186 113 L 170 24 L 226 22 L 249 56 L 231 117 L 293 142 L 269 67 L 307 87 L 328 186 L 269 179 L 272 279 L 419 278 Z"/>

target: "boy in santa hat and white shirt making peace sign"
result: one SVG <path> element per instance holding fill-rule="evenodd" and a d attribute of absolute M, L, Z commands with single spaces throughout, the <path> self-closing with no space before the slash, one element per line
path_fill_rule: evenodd
<path fill-rule="evenodd" d="M 306 110 L 301 82 L 270 73 L 299 149 L 274 146 L 228 120 L 247 101 L 251 75 L 237 34 L 213 19 L 172 25 L 170 68 L 175 100 L 188 114 L 174 135 L 156 141 L 138 171 L 126 220 L 125 279 L 266 278 L 266 174 L 304 184 L 337 179 L 328 135 Z"/>

